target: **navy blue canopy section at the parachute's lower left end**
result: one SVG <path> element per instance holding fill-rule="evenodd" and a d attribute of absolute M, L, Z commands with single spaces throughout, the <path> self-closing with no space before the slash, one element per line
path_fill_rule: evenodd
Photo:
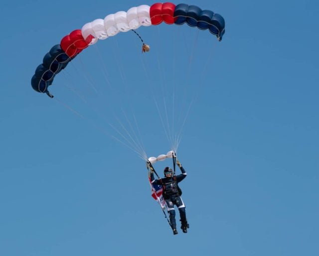
<path fill-rule="evenodd" d="M 38 92 L 48 92 L 48 86 L 52 84 L 53 79 L 57 73 L 64 69 L 72 60 L 61 49 L 60 45 L 54 45 L 51 50 L 45 54 L 43 63 L 40 64 L 31 79 L 32 88 Z"/>

